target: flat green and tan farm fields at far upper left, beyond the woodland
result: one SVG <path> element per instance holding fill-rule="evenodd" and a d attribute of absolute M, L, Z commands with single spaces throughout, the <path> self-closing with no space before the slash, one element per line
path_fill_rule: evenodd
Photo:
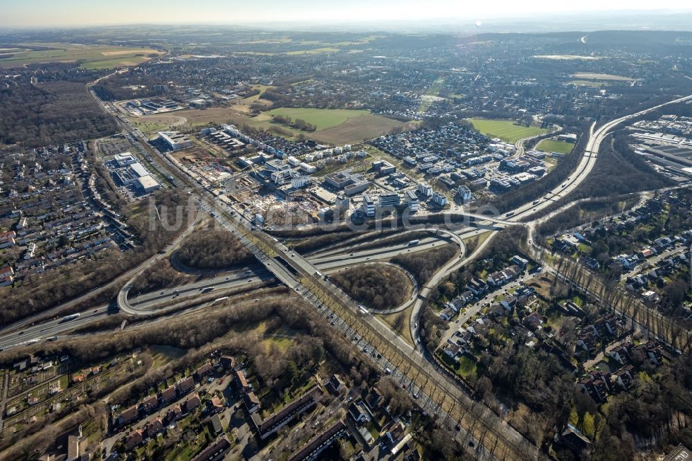
<path fill-rule="evenodd" d="M 0 68 L 46 62 L 80 62 L 84 69 L 109 69 L 136 66 L 162 54 L 163 52 L 153 48 L 127 46 L 59 43 L 17 44 L 17 48 L 0 53 Z"/>

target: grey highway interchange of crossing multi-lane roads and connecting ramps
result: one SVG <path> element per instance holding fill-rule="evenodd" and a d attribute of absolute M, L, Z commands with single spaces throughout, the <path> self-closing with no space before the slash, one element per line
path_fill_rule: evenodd
<path fill-rule="evenodd" d="M 329 320 L 331 325 L 334 325 L 345 336 L 351 338 L 358 350 L 370 356 L 374 365 L 385 373 L 391 374 L 394 379 L 406 386 L 408 392 L 417 399 L 422 408 L 426 408 L 430 413 L 439 415 L 445 421 L 452 420 L 458 422 L 458 424 L 452 424 L 456 428 L 455 435 L 465 442 L 471 442 L 470 445 L 473 444 L 476 447 L 475 450 L 478 458 L 494 459 L 498 458 L 499 453 L 501 457 L 520 455 L 521 458 L 542 459 L 544 455 L 540 453 L 538 447 L 528 442 L 511 426 L 503 424 L 502 420 L 492 413 L 489 408 L 472 401 L 445 370 L 439 370 L 439 367 L 434 363 L 430 363 L 430 357 L 424 356 L 424 350 L 415 350 L 411 345 L 403 341 L 402 338 L 392 333 L 378 318 L 360 313 L 357 305 L 349 300 L 338 287 L 331 284 L 329 280 L 325 280 L 322 277 L 322 273 L 329 273 L 347 266 L 376 260 L 389 260 L 395 255 L 424 251 L 446 242 L 456 241 L 460 247 L 459 255 L 446 263 L 432 276 L 431 280 L 424 287 L 421 287 L 420 295 L 415 302 L 414 309 L 412 309 L 411 333 L 413 338 L 417 339 L 416 325 L 430 290 L 437 286 L 450 272 L 459 269 L 459 267 L 480 254 L 485 246 L 491 242 L 493 235 L 498 233 L 499 230 L 512 224 L 527 224 L 527 218 L 530 215 L 551 206 L 554 201 L 562 199 L 578 188 L 593 170 L 597 161 L 599 147 L 614 127 L 630 118 L 646 114 L 648 111 L 691 98 L 692 95 L 678 98 L 637 112 L 637 114 L 617 118 L 601 125 L 599 128 L 596 128 L 595 124 L 592 125 L 590 138 L 581 161 L 567 181 L 547 192 L 544 197 L 532 203 L 519 206 L 501 219 L 484 215 L 466 214 L 467 217 L 475 219 L 475 228 L 462 226 L 455 230 L 447 230 L 446 233 L 452 235 L 424 237 L 419 239 L 419 244 L 415 246 L 410 246 L 408 242 L 403 242 L 401 244 L 391 244 L 383 248 L 360 251 L 357 249 L 322 251 L 309 257 L 303 257 L 295 253 L 291 248 L 282 244 L 274 237 L 264 233 L 262 230 L 256 229 L 251 222 L 248 222 L 242 216 L 242 213 L 237 213 L 238 210 L 235 210 L 233 205 L 221 204 L 218 197 L 215 197 L 208 189 L 198 186 L 191 179 L 184 177 L 184 173 L 177 170 L 175 165 L 167 160 L 166 156 L 152 152 L 152 147 L 147 145 L 147 140 L 143 134 L 138 132 L 138 130 L 135 131 L 134 127 L 129 125 L 126 120 L 123 120 L 118 114 L 113 114 L 113 111 L 105 107 L 103 102 L 95 98 L 105 111 L 109 111 L 116 116 L 120 125 L 128 134 L 138 138 L 147 151 L 154 153 L 163 161 L 163 163 L 159 162 L 159 165 L 165 165 L 167 170 L 163 173 L 169 176 L 170 172 L 174 172 L 173 176 L 176 178 L 174 183 L 185 183 L 188 185 L 189 190 L 194 190 L 199 197 L 199 208 L 215 217 L 221 226 L 235 233 L 240 241 L 253 252 L 261 264 L 261 266 L 248 267 L 242 271 L 218 275 L 214 278 L 185 284 L 181 287 L 158 290 L 152 293 L 136 293 L 134 296 L 131 293 L 128 296 L 129 288 L 132 284 L 132 280 L 130 280 L 125 284 L 125 289 L 118 293 L 118 307 L 120 311 L 129 315 L 140 315 L 143 312 L 151 315 L 152 311 L 156 311 L 157 306 L 163 301 L 167 302 L 176 298 L 194 298 L 199 293 L 213 293 L 214 296 L 217 296 L 217 293 L 224 293 L 230 289 L 240 287 L 242 284 L 264 284 L 269 280 L 276 280 L 295 291 L 298 296 L 302 296 Z M 491 233 L 489 237 L 475 248 L 471 255 L 464 254 L 465 248 L 462 239 L 486 232 Z M 174 246 L 176 246 L 179 241 L 174 243 Z M 168 254 L 170 254 L 170 251 L 166 253 L 166 255 Z M 149 264 L 153 264 L 153 261 L 148 262 L 147 266 Z M 147 266 L 137 268 L 136 274 L 146 270 Z M 82 327 L 95 320 L 105 318 L 108 313 L 109 306 L 104 305 L 88 311 L 82 311 L 80 316 L 73 320 L 51 318 L 51 320 L 38 323 L 37 325 L 17 323 L 12 325 L 11 328 L 3 329 L 0 336 L 0 347 L 17 347 L 32 342 L 50 340 L 50 338 L 54 338 L 56 335 L 69 332 L 70 329 Z M 439 395 L 438 391 L 442 392 L 442 394 Z M 471 419 L 469 420 L 468 417 L 471 417 Z M 490 430 L 491 435 L 489 437 L 492 437 L 491 440 L 494 440 L 493 446 L 498 451 L 495 451 L 495 449 L 489 451 L 487 446 L 484 446 L 486 440 L 478 440 L 477 434 L 480 432 L 476 430 L 475 424 L 469 424 L 469 421 L 475 420 L 479 420 L 482 426 Z M 483 433 L 484 437 L 486 432 Z M 497 448 L 498 446 L 500 448 Z"/>

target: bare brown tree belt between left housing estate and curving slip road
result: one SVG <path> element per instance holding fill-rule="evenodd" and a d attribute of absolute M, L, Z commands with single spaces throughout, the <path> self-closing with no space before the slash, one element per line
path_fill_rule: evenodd
<path fill-rule="evenodd" d="M 82 296 L 147 260 L 183 230 L 172 224 L 176 222 L 176 215 L 180 215 L 181 222 L 187 222 L 190 214 L 186 207 L 187 201 L 187 195 L 181 191 L 159 190 L 154 195 L 154 201 L 147 203 L 148 208 L 139 210 L 138 215 L 125 210 L 127 223 L 140 237 L 140 245 L 133 250 L 125 253 L 117 249 L 104 251 L 93 260 L 80 260 L 69 267 L 53 269 L 49 273 L 28 275 L 15 287 L 1 287 L 3 309 L 0 310 L 0 324 L 12 323 Z M 169 213 L 170 226 L 162 226 L 160 220 L 150 219 L 152 214 L 156 214 L 151 208 L 154 203 L 158 208 L 176 210 L 176 213 Z"/>

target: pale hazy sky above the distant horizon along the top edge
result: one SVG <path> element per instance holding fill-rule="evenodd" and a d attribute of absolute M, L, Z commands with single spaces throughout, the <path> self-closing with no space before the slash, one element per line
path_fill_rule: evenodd
<path fill-rule="evenodd" d="M 437 18 L 475 21 L 541 12 L 689 8 L 689 0 L 0 0 L 0 27 Z"/>

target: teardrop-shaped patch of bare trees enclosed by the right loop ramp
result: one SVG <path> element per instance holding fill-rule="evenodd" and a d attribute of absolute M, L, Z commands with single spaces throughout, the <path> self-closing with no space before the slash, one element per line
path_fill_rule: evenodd
<path fill-rule="evenodd" d="M 410 296 L 408 275 L 389 264 L 350 268 L 331 275 L 346 293 L 373 309 L 398 307 Z"/>

